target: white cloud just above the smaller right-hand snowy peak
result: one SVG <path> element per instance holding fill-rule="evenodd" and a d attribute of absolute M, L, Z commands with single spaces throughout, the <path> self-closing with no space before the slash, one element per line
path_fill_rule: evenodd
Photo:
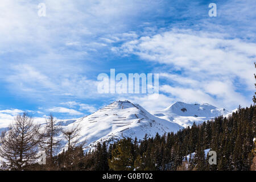
<path fill-rule="evenodd" d="M 248 106 L 246 97 L 236 91 L 235 86 L 230 80 L 192 80 L 188 77 L 172 75 L 168 73 L 160 74 L 168 78 L 172 85 L 161 85 L 160 91 L 168 93 L 176 101 L 189 103 L 199 102 L 200 104 L 208 103 L 217 107 L 226 107 L 232 110 L 238 105 Z"/>

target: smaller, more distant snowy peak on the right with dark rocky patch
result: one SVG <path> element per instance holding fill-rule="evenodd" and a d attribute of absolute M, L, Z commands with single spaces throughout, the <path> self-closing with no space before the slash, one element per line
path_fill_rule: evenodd
<path fill-rule="evenodd" d="M 175 102 L 161 111 L 155 111 L 156 117 L 175 122 L 180 126 L 192 126 L 193 123 L 201 123 L 220 115 L 228 115 L 230 112 L 224 108 L 217 108 L 209 104 L 186 104 Z"/>

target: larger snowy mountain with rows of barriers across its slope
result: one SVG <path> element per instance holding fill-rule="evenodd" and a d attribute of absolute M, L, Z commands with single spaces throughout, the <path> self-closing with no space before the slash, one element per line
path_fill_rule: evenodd
<path fill-rule="evenodd" d="M 154 137 L 156 133 L 162 135 L 183 128 L 177 123 L 155 117 L 129 101 L 116 101 L 84 118 L 60 123 L 64 129 L 81 126 L 80 141 L 86 140 L 87 150 L 97 142 L 115 142 L 122 137 L 137 137 L 139 140 L 145 134 Z"/>

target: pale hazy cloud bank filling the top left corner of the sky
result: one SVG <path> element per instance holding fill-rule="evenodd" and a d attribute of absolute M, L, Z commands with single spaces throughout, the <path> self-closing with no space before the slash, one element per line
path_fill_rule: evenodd
<path fill-rule="evenodd" d="M 2 0 L 0 5 L 1 51 L 26 51 L 42 48 L 55 51 L 56 46 L 67 46 L 93 42 L 94 35 L 123 32 L 129 24 L 138 21 L 135 17 L 147 16 L 157 5 L 135 0 L 81 1 L 45 0 L 46 16 L 38 16 L 36 1 Z M 143 8 L 142 8 L 143 7 Z M 114 28 L 113 28 L 114 27 Z M 134 32 L 123 36 L 134 37 Z M 85 38 L 85 40 L 81 38 Z M 108 43 L 112 42 L 111 40 Z M 104 40 L 104 41 L 105 41 Z M 17 44 L 17 42 L 19 44 Z M 16 44 L 16 45 L 15 45 Z M 26 44 L 26 49 L 20 47 Z M 90 45 L 90 44 L 88 44 Z M 29 48 L 29 49 L 28 49 Z"/>

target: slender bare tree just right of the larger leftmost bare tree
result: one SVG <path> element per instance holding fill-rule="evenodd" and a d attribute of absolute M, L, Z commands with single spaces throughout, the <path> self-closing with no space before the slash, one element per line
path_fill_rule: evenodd
<path fill-rule="evenodd" d="M 42 133 L 42 142 L 40 142 L 40 147 L 46 152 L 51 163 L 53 162 L 52 157 L 60 148 L 61 139 L 56 138 L 60 134 L 60 131 L 61 129 L 56 125 L 56 120 L 53 115 L 49 114 L 46 126 Z"/>

